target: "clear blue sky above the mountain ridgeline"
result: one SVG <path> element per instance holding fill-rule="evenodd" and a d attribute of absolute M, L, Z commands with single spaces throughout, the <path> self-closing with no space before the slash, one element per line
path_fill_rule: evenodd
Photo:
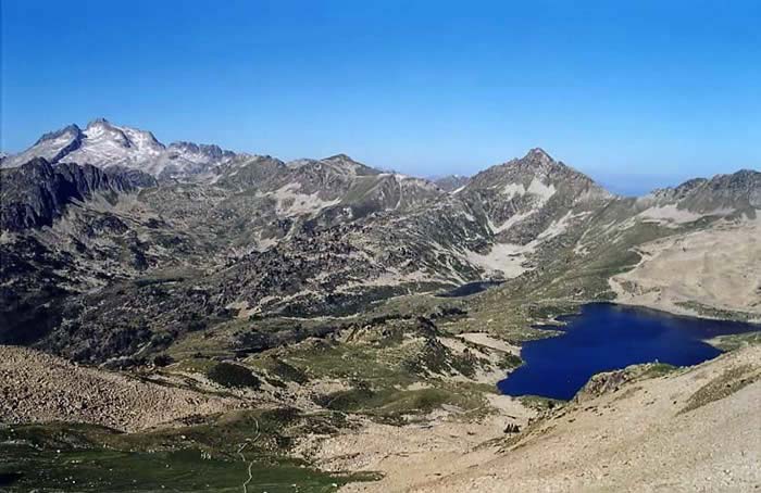
<path fill-rule="evenodd" d="M 431 176 L 541 147 L 615 191 L 761 167 L 761 1 L 2 0 L 0 147 L 104 116 Z"/>

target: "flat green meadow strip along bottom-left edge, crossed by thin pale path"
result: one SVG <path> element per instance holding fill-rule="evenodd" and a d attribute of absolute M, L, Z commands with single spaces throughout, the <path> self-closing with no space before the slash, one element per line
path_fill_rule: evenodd
<path fill-rule="evenodd" d="M 3 491 L 76 492 L 239 492 L 247 478 L 242 460 L 203 458 L 199 451 L 118 452 L 110 450 L 38 451 L 0 446 L 0 478 L 11 478 Z M 349 479 L 329 476 L 285 460 L 255 462 L 249 491 L 329 492 Z M 298 485 L 295 490 L 292 484 Z M 255 490 L 254 490 L 255 489 Z"/>

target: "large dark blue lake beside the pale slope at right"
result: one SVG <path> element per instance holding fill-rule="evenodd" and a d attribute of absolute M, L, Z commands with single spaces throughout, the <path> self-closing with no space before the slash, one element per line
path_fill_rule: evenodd
<path fill-rule="evenodd" d="M 761 330 L 761 325 L 677 317 L 610 303 L 592 303 L 579 315 L 560 317 L 558 337 L 526 342 L 525 364 L 498 383 L 508 395 L 569 400 L 600 371 L 638 363 L 696 365 L 721 351 L 703 340 Z"/>

